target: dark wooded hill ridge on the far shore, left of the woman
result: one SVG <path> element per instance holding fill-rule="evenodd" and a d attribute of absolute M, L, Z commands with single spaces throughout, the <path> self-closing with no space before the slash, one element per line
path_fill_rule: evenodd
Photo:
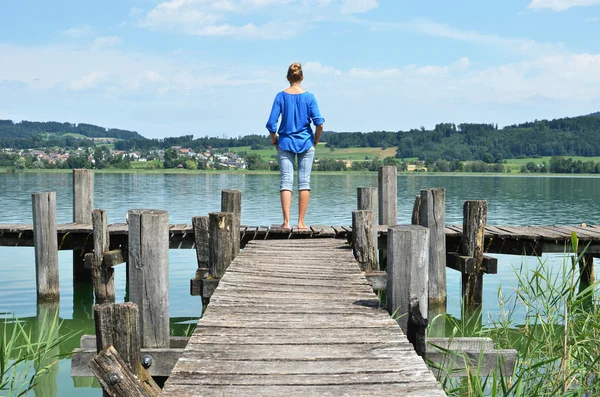
<path fill-rule="evenodd" d="M 115 138 L 123 140 L 146 139 L 135 131 L 121 130 L 118 128 L 104 128 L 93 124 L 59 123 L 55 121 L 21 121 L 0 120 L 0 138 L 35 138 L 48 134 L 62 136 L 77 134 L 87 138 Z"/>

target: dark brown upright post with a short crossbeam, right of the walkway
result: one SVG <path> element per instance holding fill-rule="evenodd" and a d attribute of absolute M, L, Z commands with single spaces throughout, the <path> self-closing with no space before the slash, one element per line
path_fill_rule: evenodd
<path fill-rule="evenodd" d="M 487 201 L 466 201 L 463 207 L 463 235 L 461 253 L 474 258 L 474 271 L 462 274 L 463 305 L 466 313 L 481 307 L 483 294 L 483 251 Z"/>

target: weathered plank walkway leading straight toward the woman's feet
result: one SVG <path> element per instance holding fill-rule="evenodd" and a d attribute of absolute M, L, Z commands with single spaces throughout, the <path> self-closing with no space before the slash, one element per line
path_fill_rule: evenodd
<path fill-rule="evenodd" d="M 344 240 L 254 240 L 161 396 L 445 396 Z"/>

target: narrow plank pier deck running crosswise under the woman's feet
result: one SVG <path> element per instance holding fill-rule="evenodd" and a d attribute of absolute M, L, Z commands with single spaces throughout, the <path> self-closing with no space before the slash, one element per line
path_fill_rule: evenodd
<path fill-rule="evenodd" d="M 378 226 L 380 247 L 385 247 L 387 226 Z M 351 226 L 311 226 L 310 230 L 292 231 L 268 226 L 242 226 L 240 238 L 242 246 L 252 240 L 300 239 L 318 237 L 347 238 L 352 233 Z M 111 247 L 127 245 L 128 226 L 115 223 L 108 227 Z M 575 232 L 583 242 L 580 248 L 595 256 L 600 255 L 600 226 L 496 226 L 485 227 L 485 252 L 496 254 L 540 255 L 544 252 L 562 253 Z M 84 249 L 91 251 L 92 226 L 66 223 L 57 225 L 59 249 Z M 170 248 L 195 248 L 194 228 L 190 224 L 169 226 Z M 462 225 L 446 227 L 449 251 L 460 245 Z M 588 246 L 589 243 L 589 246 Z M 31 224 L 0 224 L 0 246 L 33 246 L 33 226 Z"/>

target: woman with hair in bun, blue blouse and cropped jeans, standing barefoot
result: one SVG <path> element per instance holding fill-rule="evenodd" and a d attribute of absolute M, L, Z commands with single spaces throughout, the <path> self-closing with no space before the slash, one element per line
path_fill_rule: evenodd
<path fill-rule="evenodd" d="M 294 185 L 294 159 L 298 159 L 298 229 L 307 229 L 304 215 L 310 198 L 310 172 L 315 158 L 315 147 L 323 132 L 323 122 L 315 96 L 302 86 L 302 65 L 293 63 L 288 68 L 289 88 L 275 97 L 267 130 L 277 149 L 281 173 L 280 195 L 284 229 L 290 229 L 290 206 Z M 277 121 L 281 116 L 279 129 Z M 313 134 L 310 123 L 315 125 Z M 278 136 L 279 135 L 279 136 Z"/>

